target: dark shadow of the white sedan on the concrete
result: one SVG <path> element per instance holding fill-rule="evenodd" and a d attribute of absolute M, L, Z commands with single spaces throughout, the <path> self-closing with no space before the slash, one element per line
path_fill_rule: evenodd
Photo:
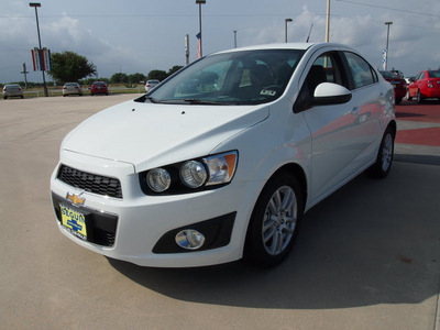
<path fill-rule="evenodd" d="M 191 302 L 331 309 L 424 301 L 437 295 L 440 276 L 440 206 L 437 188 L 425 183 L 439 182 L 440 172 L 421 166 L 396 162 L 388 178 L 361 175 L 317 205 L 275 268 L 109 263 L 141 286 Z"/>

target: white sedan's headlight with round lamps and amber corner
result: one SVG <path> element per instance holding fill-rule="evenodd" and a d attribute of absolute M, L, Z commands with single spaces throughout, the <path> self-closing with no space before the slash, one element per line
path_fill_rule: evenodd
<path fill-rule="evenodd" d="M 141 173 L 146 195 L 187 194 L 229 184 L 237 169 L 237 151 L 176 163 Z"/>

